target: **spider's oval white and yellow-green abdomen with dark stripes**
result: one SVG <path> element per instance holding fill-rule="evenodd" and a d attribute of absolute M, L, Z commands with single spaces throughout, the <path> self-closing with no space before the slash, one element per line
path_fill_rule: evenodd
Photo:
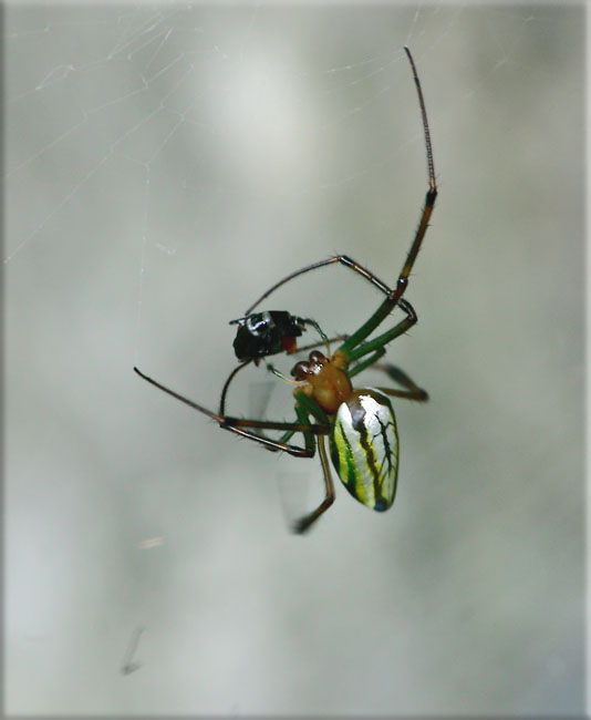
<path fill-rule="evenodd" d="M 387 510 L 398 473 L 398 434 L 390 400 L 376 390 L 354 390 L 336 411 L 330 448 L 351 495 L 372 510 Z"/>

